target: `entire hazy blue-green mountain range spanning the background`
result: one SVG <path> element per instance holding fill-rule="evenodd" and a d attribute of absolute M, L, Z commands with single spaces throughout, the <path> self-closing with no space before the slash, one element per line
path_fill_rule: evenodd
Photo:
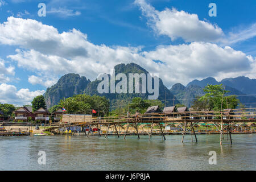
<path fill-rule="evenodd" d="M 115 75 L 118 73 L 124 73 L 127 78 L 129 73 L 145 73 L 148 72 L 146 69 L 142 68 L 138 64 L 130 63 L 130 64 L 118 64 L 115 65 Z M 108 75 L 110 77 L 110 75 Z M 109 79 L 110 80 L 110 79 Z M 97 86 L 101 81 L 97 79 L 94 81 L 90 81 L 84 76 L 69 73 L 67 75 L 62 76 L 59 81 L 47 88 L 44 97 L 46 98 L 47 107 L 51 107 L 59 103 L 59 101 L 63 98 L 72 97 L 76 94 L 88 94 L 93 96 L 94 94 L 98 96 L 105 96 L 110 100 L 110 104 L 120 105 L 127 104 L 127 101 L 130 101 L 134 97 L 142 97 L 143 99 L 147 99 L 148 93 L 138 93 L 138 94 L 117 94 L 117 93 L 103 93 L 99 94 L 97 90 Z M 116 81 L 118 82 L 118 81 Z M 173 105 L 177 103 L 184 104 L 188 107 L 191 106 L 191 103 L 196 96 L 203 96 L 203 88 L 207 86 L 207 84 L 223 84 L 226 86 L 226 90 L 230 90 L 229 94 L 242 95 L 238 96 L 242 103 L 245 103 L 247 107 L 255 107 L 256 104 L 247 104 L 247 103 L 256 103 L 256 97 L 254 96 L 243 96 L 247 94 L 255 94 L 256 93 L 256 79 L 250 79 L 248 77 L 236 77 L 236 78 L 225 78 L 218 82 L 213 77 L 204 78 L 203 80 L 193 80 L 184 86 L 182 84 L 175 84 L 171 89 L 167 89 L 167 87 L 163 84 L 163 81 L 159 78 L 159 97 L 158 100 L 164 101 L 166 100 L 166 105 Z M 128 86 L 127 86 L 128 88 Z M 177 101 L 172 101 L 174 98 Z"/>

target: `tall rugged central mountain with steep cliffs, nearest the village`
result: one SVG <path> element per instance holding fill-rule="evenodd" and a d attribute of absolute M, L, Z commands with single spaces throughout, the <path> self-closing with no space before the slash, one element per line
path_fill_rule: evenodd
<path fill-rule="evenodd" d="M 115 75 L 118 73 L 124 73 L 127 78 L 129 73 L 145 73 L 147 75 L 146 69 L 142 68 L 138 64 L 130 63 L 130 64 L 118 64 L 115 65 Z M 110 77 L 110 75 L 108 75 Z M 109 78 L 110 81 L 110 78 Z M 47 88 L 44 97 L 46 98 L 47 107 L 51 107 L 59 103 L 59 101 L 63 98 L 72 97 L 76 94 L 88 94 L 89 96 L 93 96 L 94 94 L 97 96 L 105 96 L 110 100 L 110 104 L 118 105 L 118 103 L 123 101 L 130 101 L 134 97 L 142 97 L 143 99 L 148 99 L 149 93 L 127 93 L 127 94 L 118 94 L 118 93 L 98 93 L 97 86 L 101 81 L 87 80 L 86 77 L 80 77 L 78 74 L 70 73 L 62 76 L 57 84 L 51 86 L 51 88 Z M 119 81 L 116 81 L 116 83 Z M 152 82 L 154 84 L 154 81 Z M 128 81 L 127 81 L 128 84 Z M 141 84 L 140 84 L 141 85 Z M 109 85 L 110 86 L 110 85 Z M 127 85 L 128 88 L 128 85 Z M 110 89 L 109 89 L 110 90 Z M 152 94 L 150 94 L 152 95 Z M 167 100 L 167 104 L 173 104 L 173 101 L 170 101 L 174 98 L 174 94 L 164 86 L 163 81 L 159 78 L 159 97 L 158 100 Z M 179 103 L 179 101 L 175 101 L 175 104 Z"/>

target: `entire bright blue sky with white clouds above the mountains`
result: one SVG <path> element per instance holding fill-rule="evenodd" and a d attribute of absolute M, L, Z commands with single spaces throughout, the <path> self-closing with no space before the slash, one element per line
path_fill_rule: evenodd
<path fill-rule="evenodd" d="M 216 17 L 208 15 L 212 2 Z M 256 78 L 255 7 L 254 0 L 0 0 L 0 102 L 28 104 L 66 73 L 94 80 L 119 63 L 159 73 L 168 88 L 208 76 Z"/>

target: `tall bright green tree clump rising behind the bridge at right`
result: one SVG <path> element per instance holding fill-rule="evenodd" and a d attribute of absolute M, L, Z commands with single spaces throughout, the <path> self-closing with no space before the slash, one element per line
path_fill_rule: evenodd
<path fill-rule="evenodd" d="M 224 90 L 222 88 L 222 84 L 220 85 L 207 85 L 203 89 L 205 94 L 201 96 L 198 101 L 193 102 L 193 108 L 196 106 L 200 106 L 201 108 L 209 109 L 209 110 L 222 110 L 223 109 L 236 109 L 238 103 L 240 102 L 237 99 L 237 96 L 224 96 L 222 99 L 222 95 L 229 93 L 228 90 Z M 196 105 L 195 105 L 196 104 Z M 205 106 L 203 106 L 205 104 Z"/>

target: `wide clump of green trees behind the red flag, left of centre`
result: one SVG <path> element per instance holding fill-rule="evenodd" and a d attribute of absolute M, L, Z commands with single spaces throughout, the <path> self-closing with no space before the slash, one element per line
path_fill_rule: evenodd
<path fill-rule="evenodd" d="M 79 94 L 60 100 L 59 105 L 64 107 L 69 114 L 92 114 L 92 110 L 98 111 L 103 116 L 109 113 L 109 101 L 105 97 L 87 96 Z"/>

